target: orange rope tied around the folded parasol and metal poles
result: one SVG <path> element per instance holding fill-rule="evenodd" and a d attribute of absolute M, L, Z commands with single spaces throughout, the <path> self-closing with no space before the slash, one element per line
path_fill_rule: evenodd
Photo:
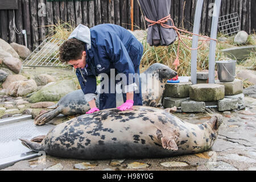
<path fill-rule="evenodd" d="M 185 30 L 181 30 L 181 29 L 177 28 L 176 26 L 170 26 L 170 25 L 168 25 L 168 24 L 164 24 L 164 23 L 168 22 L 168 20 L 171 20 L 172 24 L 174 25 L 174 20 L 171 19 L 171 15 L 170 15 L 170 14 L 169 14 L 168 16 L 162 18 L 162 19 L 159 19 L 157 22 L 148 19 L 146 16 L 145 16 L 145 19 L 146 19 L 147 22 L 152 23 L 152 24 L 148 25 L 148 27 L 153 26 L 153 25 L 155 25 L 155 24 L 160 24 L 160 25 L 161 25 L 162 27 L 164 27 L 164 28 L 174 28 L 174 30 L 176 31 L 177 36 L 178 36 L 178 38 L 179 38 L 179 43 L 178 43 L 178 47 L 177 47 L 177 56 L 176 56 L 176 59 L 175 59 L 175 61 L 174 61 L 174 65 L 175 65 L 175 69 L 176 69 L 176 70 L 177 70 L 177 66 L 180 65 L 180 63 L 179 63 L 180 42 L 181 42 L 185 47 L 187 47 L 187 48 L 190 49 L 190 50 L 197 50 L 197 49 L 199 49 L 200 47 L 202 47 L 202 46 L 205 44 L 205 42 L 207 42 L 207 41 L 210 41 L 210 40 L 217 41 L 217 39 L 212 39 L 212 38 L 209 38 L 208 36 L 203 36 L 203 35 L 199 35 L 199 34 L 194 34 L 194 33 L 192 33 L 192 32 L 188 32 L 188 31 L 185 31 Z M 192 35 L 200 36 L 200 37 L 205 38 L 205 39 L 204 39 L 204 40 L 199 40 L 199 41 L 203 41 L 203 43 L 201 44 L 201 46 L 199 46 L 199 47 L 197 47 L 197 48 L 190 48 L 190 47 L 188 47 L 188 46 L 183 42 L 183 40 L 182 40 L 181 38 L 186 38 L 186 39 L 191 39 L 191 38 L 187 38 L 187 37 L 185 37 L 185 36 L 181 36 L 179 31 L 185 32 L 185 33 L 187 33 L 187 34 L 192 34 Z M 192 39 L 191 39 L 191 40 L 192 40 Z"/>

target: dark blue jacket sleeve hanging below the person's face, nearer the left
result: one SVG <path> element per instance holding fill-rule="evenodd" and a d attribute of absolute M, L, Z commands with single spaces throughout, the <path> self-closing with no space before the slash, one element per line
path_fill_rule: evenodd
<path fill-rule="evenodd" d="M 89 102 L 94 98 L 96 99 L 96 76 L 88 75 L 83 78 L 79 71 L 76 71 L 76 76 L 79 80 L 82 92 L 84 92 L 85 100 Z"/>

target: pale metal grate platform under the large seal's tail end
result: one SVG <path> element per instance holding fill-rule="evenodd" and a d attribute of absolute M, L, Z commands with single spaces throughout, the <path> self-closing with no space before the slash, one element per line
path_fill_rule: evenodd
<path fill-rule="evenodd" d="M 35 126 L 31 118 L 16 117 L 0 120 L 0 169 L 23 160 L 24 156 L 26 158 L 31 158 L 30 155 L 37 156 L 35 152 L 23 146 L 19 138 L 31 139 L 38 135 L 46 135 L 54 125 Z"/>

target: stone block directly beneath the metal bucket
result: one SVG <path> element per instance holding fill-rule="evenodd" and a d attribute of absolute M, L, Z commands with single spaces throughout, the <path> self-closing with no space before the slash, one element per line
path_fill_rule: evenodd
<path fill-rule="evenodd" d="M 215 83 L 225 86 L 225 96 L 234 96 L 243 92 L 243 82 L 239 79 L 235 79 L 231 82 L 216 80 Z"/>

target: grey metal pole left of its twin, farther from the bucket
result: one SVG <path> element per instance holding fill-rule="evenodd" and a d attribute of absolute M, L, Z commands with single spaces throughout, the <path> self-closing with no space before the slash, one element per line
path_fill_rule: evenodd
<path fill-rule="evenodd" d="M 196 3 L 196 14 L 194 20 L 193 33 L 199 34 L 200 20 L 202 14 L 204 0 L 197 0 Z M 193 35 L 192 48 L 197 48 L 198 36 Z M 196 67 L 197 67 L 197 50 L 191 51 L 191 81 L 192 84 L 196 84 Z"/>

